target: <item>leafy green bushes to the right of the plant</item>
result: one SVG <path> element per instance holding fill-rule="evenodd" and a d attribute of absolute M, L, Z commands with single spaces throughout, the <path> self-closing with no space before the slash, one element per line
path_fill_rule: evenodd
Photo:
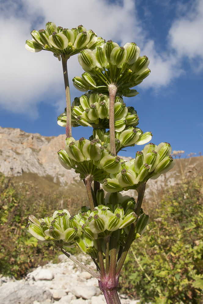
<path fill-rule="evenodd" d="M 203 302 L 202 171 L 145 202 L 150 222 L 121 273 L 121 292 L 156 304 Z M 148 209 L 148 210 L 146 210 Z"/>

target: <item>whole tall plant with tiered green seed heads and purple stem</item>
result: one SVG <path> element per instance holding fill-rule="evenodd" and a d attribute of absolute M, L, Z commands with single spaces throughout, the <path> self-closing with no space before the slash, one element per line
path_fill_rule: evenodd
<path fill-rule="evenodd" d="M 51 51 L 62 61 L 66 108 L 58 124 L 66 128 L 67 138 L 58 159 L 84 181 L 89 206 L 83 206 L 74 216 L 68 210 L 56 210 L 53 216 L 43 219 L 30 215 L 27 228 L 39 241 L 54 242 L 61 252 L 96 277 L 108 304 L 120 303 L 116 288 L 121 268 L 149 217 L 141 208 L 146 182 L 175 164 L 169 143 L 149 143 L 130 161 L 118 156 L 123 147 L 143 145 L 152 138 L 151 132 L 143 133 L 137 127 L 136 110 L 126 107 L 122 98 L 138 94 L 132 88 L 150 74 L 149 59 L 140 56 L 135 43 L 120 47 L 82 25 L 69 30 L 48 22 L 45 30 L 34 30 L 31 35 L 32 40 L 27 40 L 25 46 L 28 51 Z M 85 72 L 82 77 L 74 77 L 73 85 L 85 93 L 71 105 L 67 60 L 75 54 Z M 71 128 L 79 125 L 92 127 L 89 139 L 72 137 Z M 120 193 L 128 189 L 136 189 L 137 201 Z M 75 245 L 91 256 L 97 273 L 67 252 Z"/>

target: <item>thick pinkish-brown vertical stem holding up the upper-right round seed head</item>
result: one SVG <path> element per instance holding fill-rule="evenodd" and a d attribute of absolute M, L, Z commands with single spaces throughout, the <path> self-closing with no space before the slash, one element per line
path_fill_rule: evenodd
<path fill-rule="evenodd" d="M 116 155 L 115 129 L 114 129 L 114 104 L 118 88 L 114 84 L 109 85 L 109 129 L 111 154 Z"/>

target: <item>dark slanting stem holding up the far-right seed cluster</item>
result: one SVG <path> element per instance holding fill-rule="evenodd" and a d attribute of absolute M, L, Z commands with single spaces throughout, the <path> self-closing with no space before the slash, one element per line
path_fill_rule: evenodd
<path fill-rule="evenodd" d="M 142 201 L 143 201 L 144 192 L 145 192 L 145 186 L 146 186 L 146 183 L 140 184 L 140 186 L 137 189 L 138 196 L 137 196 L 137 204 L 136 204 L 136 209 L 135 209 L 135 213 L 137 214 L 137 216 L 139 216 L 139 214 L 140 214 L 140 209 L 141 209 L 141 206 L 142 206 Z M 128 250 L 130 249 L 132 239 L 133 239 L 133 236 L 134 236 L 134 233 L 135 233 L 136 224 L 137 224 L 137 221 L 135 221 L 133 224 L 131 224 L 128 239 L 125 243 L 123 253 L 121 255 L 121 258 L 118 262 L 118 266 L 117 266 L 117 269 L 116 269 L 116 277 L 119 277 L 120 272 L 121 272 L 121 268 L 123 267 L 126 256 L 128 254 Z"/>

